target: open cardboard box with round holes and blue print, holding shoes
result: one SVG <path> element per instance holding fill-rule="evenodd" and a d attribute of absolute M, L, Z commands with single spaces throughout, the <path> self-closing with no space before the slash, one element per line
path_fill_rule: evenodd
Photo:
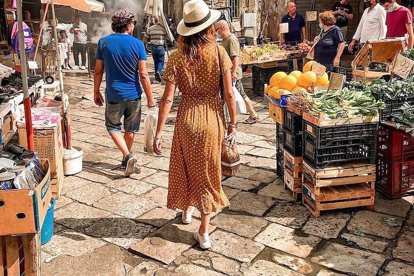
<path fill-rule="evenodd" d="M 50 204 L 50 164 L 41 160 L 46 175 L 33 189 L 0 191 L 0 236 L 34 234 L 41 230 L 47 208 Z"/>

